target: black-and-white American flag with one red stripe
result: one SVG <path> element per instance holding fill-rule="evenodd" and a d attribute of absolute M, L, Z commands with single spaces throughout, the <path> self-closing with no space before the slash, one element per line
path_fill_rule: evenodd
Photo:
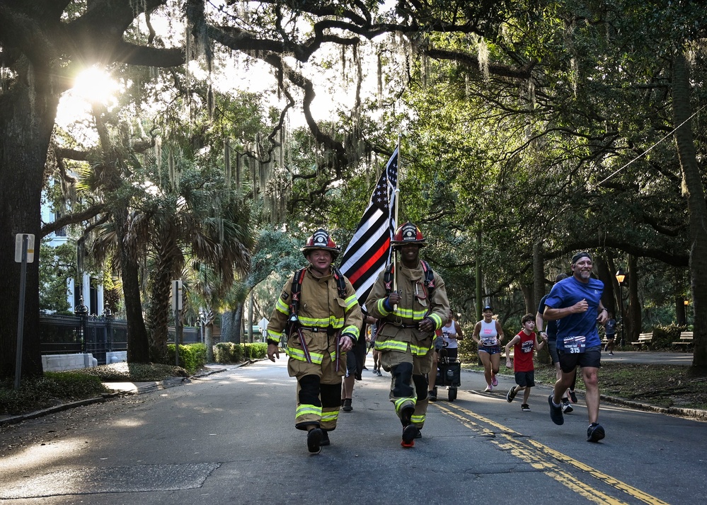
<path fill-rule="evenodd" d="M 395 233 L 395 190 L 398 186 L 398 149 L 381 173 L 371 201 L 341 258 L 340 271 L 351 281 L 360 303 L 368 298 L 379 272 L 390 262 Z"/>

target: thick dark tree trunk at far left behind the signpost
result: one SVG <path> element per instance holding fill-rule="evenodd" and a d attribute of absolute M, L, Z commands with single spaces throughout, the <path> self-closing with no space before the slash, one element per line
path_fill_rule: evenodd
<path fill-rule="evenodd" d="M 21 264 L 14 261 L 18 233 L 35 236 L 27 265 L 22 376 L 42 375 L 39 339 L 39 248 L 42 183 L 59 93 L 53 73 L 28 62 L 0 93 L 0 378 L 15 376 Z"/>

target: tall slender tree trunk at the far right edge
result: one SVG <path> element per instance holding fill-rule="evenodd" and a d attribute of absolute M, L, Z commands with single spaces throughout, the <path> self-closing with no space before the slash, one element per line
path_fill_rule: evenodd
<path fill-rule="evenodd" d="M 692 365 L 707 367 L 707 204 L 692 137 L 690 89 L 682 47 L 674 52 L 673 57 L 672 110 L 692 240 L 690 277 L 695 344 Z"/>

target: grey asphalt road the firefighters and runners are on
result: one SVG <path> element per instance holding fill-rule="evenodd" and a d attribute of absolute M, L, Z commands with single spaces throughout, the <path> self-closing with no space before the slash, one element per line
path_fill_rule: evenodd
<path fill-rule="evenodd" d="M 372 368 L 369 363 L 369 368 Z M 390 378 L 364 371 L 332 445 L 294 429 L 284 359 L 180 387 L 0 428 L 0 503 L 694 504 L 707 496 L 705 422 L 602 406 L 607 438 L 586 441 L 583 398 L 556 426 L 548 388 L 531 412 L 464 371 L 455 402 L 430 405 L 423 439 L 401 448 Z M 440 391 L 440 397 L 444 392 Z"/>

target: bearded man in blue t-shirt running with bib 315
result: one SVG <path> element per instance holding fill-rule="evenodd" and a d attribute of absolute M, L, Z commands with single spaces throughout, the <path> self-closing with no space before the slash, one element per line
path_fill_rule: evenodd
<path fill-rule="evenodd" d="M 598 442 L 605 432 L 599 420 L 599 382 L 597 373 L 602 361 L 602 339 L 597 323 L 607 322 L 607 309 L 602 305 L 604 283 L 592 279 L 592 257 L 582 251 L 572 257 L 572 277 L 555 284 L 545 301 L 545 320 L 559 320 L 557 352 L 562 376 L 548 397 L 550 418 L 555 424 L 565 422 L 561 398 L 572 382 L 577 366 L 582 367 L 587 394 L 590 426 L 587 441 Z"/>

